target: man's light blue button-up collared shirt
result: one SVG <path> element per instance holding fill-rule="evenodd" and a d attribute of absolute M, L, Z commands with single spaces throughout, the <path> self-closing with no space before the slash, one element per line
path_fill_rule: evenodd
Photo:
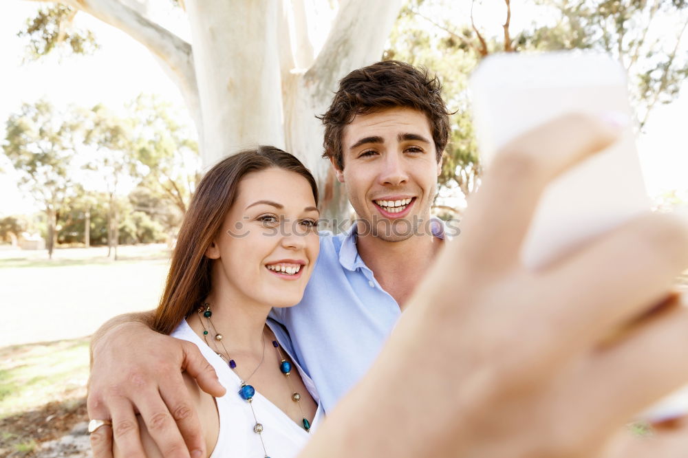
<path fill-rule="evenodd" d="M 401 315 L 358 256 L 354 227 L 339 235 L 321 232 L 303 299 L 272 312 L 288 329 L 292 354 L 315 382 L 325 412 L 361 380 Z M 431 228 L 444 239 L 439 220 Z"/>

